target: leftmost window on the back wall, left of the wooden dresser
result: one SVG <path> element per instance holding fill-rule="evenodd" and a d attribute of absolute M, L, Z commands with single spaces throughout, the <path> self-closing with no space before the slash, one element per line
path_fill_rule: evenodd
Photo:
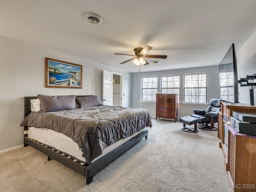
<path fill-rule="evenodd" d="M 156 101 L 157 77 L 142 77 L 141 87 L 142 101 Z"/>

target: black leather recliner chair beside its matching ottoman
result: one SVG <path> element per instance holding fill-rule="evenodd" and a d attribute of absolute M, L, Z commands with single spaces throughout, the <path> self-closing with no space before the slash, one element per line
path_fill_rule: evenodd
<path fill-rule="evenodd" d="M 194 109 L 192 117 L 200 118 L 201 122 L 198 124 L 198 128 L 204 130 L 216 131 L 217 127 L 214 127 L 214 123 L 218 122 L 218 112 L 221 110 L 220 99 L 211 99 L 210 105 L 206 110 Z M 210 123 L 210 126 L 208 125 Z"/>

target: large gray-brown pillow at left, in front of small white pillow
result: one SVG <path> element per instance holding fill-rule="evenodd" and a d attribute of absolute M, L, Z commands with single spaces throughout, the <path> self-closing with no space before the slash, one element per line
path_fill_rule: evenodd
<path fill-rule="evenodd" d="M 37 97 L 40 100 L 39 112 L 70 110 L 70 109 L 76 108 L 75 95 L 63 95 L 63 96 L 38 95 Z"/>

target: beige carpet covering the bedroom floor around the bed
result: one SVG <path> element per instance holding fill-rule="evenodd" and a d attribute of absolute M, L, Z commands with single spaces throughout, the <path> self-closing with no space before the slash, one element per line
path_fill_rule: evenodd
<path fill-rule="evenodd" d="M 217 131 L 188 133 L 182 123 L 152 120 L 148 139 L 85 178 L 30 146 L 0 154 L 4 192 L 232 192 Z"/>

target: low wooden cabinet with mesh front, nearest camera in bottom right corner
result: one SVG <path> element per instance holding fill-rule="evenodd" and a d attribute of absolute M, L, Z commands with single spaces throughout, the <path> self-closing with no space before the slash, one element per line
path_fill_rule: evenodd
<path fill-rule="evenodd" d="M 256 191 L 256 137 L 229 129 L 228 173 L 234 192 Z"/>

